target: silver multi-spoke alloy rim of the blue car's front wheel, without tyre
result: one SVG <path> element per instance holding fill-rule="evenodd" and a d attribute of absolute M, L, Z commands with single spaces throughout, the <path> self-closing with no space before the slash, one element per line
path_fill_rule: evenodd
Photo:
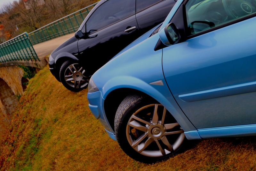
<path fill-rule="evenodd" d="M 185 139 L 179 123 L 161 104 L 138 109 L 126 126 L 132 148 L 148 157 L 161 157 L 176 151 Z"/>

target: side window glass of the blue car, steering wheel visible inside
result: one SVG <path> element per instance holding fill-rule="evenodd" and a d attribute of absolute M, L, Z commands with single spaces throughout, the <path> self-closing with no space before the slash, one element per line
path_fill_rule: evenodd
<path fill-rule="evenodd" d="M 256 0 L 189 0 L 185 5 L 189 35 L 256 12 Z"/>

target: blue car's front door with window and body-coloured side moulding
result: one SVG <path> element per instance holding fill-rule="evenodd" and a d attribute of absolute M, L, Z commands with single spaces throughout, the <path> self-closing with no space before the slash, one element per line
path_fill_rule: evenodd
<path fill-rule="evenodd" d="M 166 82 L 197 129 L 256 124 L 256 1 L 234 2 L 188 0 L 185 39 L 163 48 Z"/>

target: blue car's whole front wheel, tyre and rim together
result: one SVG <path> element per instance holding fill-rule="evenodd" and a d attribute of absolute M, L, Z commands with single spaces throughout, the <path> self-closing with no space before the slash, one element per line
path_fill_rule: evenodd
<path fill-rule="evenodd" d="M 119 105 L 115 134 L 123 151 L 143 163 L 173 156 L 186 140 L 184 131 L 170 112 L 142 95 L 129 95 Z"/>

